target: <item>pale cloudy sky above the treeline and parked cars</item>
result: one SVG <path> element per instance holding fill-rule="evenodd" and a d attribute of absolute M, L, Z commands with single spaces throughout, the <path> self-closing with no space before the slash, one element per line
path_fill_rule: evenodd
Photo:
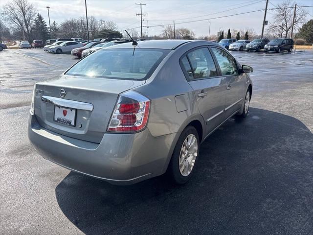
<path fill-rule="evenodd" d="M 48 23 L 46 6 L 50 6 L 51 23 L 70 18 L 78 18 L 85 15 L 85 0 L 29 0 L 43 15 Z M 274 8 L 283 0 L 270 0 L 268 8 Z M 0 0 L 0 7 L 10 0 Z M 313 0 L 296 0 L 298 5 L 313 5 Z M 136 13 L 140 12 L 140 1 L 135 0 L 87 0 L 89 16 L 97 19 L 113 21 L 118 25 L 119 30 L 140 26 L 140 17 Z M 184 23 L 201 19 L 216 18 L 242 12 L 255 11 L 265 8 L 266 0 L 143 0 L 142 13 L 144 17 L 143 25 L 164 25 L 173 24 L 175 20 L 176 28 L 187 27 L 195 32 L 197 36 L 208 35 L 208 20 L 193 23 Z M 237 9 L 233 9 L 237 8 Z M 313 19 L 313 7 L 306 8 L 308 11 L 307 20 Z M 267 20 L 270 22 L 273 11 L 268 11 Z M 211 19 L 211 35 L 216 34 L 222 28 L 241 29 L 245 27 L 254 28 L 261 34 L 264 11 L 248 13 L 239 16 L 230 16 L 220 19 Z M 183 24 L 179 24 L 183 23 Z M 148 35 L 157 35 L 162 32 L 162 26 L 149 27 Z M 138 31 L 140 28 L 137 29 Z M 144 28 L 144 30 L 146 30 Z"/>

